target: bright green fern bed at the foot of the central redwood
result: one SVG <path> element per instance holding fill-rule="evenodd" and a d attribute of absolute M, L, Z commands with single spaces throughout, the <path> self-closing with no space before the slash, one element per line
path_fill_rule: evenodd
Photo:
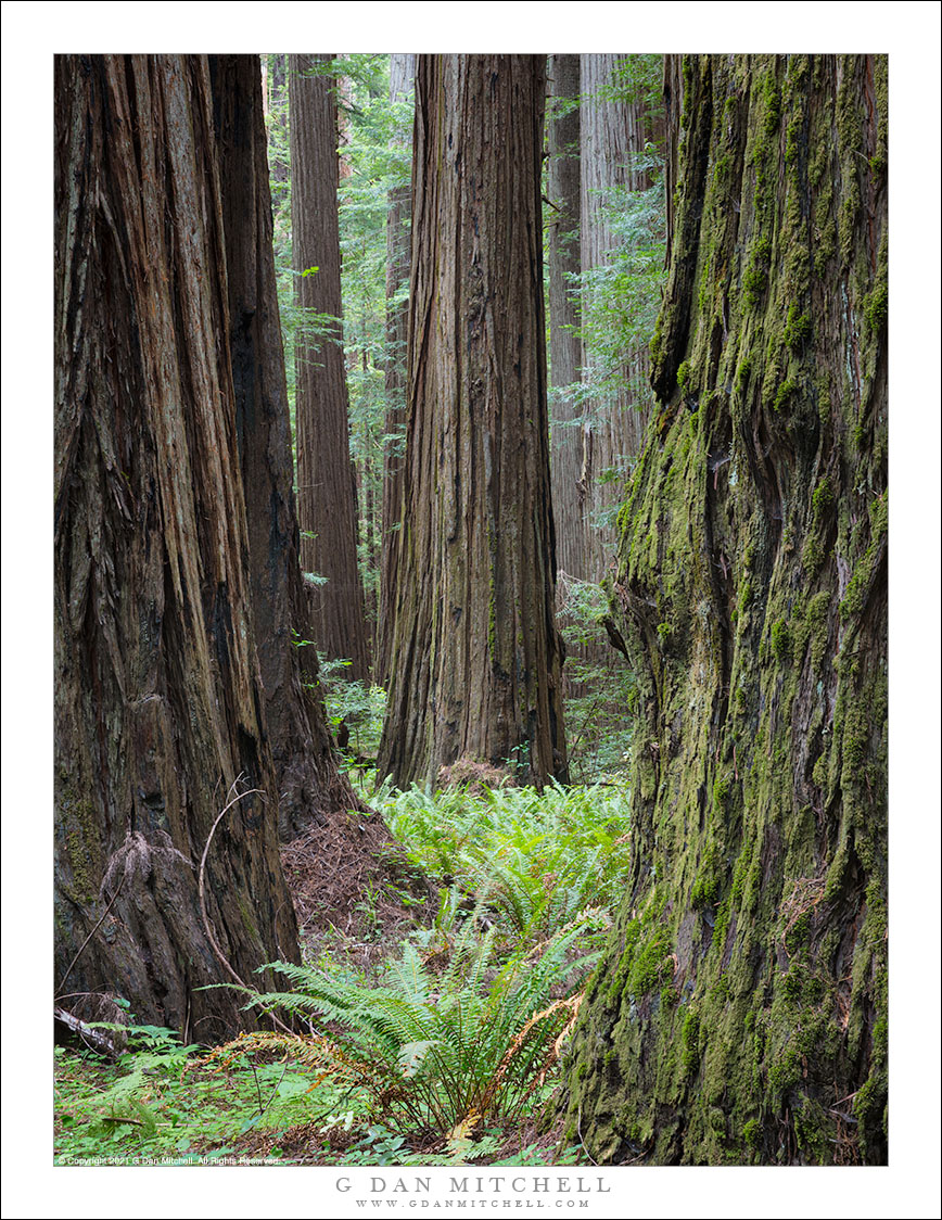
<path fill-rule="evenodd" d="M 628 803 L 619 789 L 412 787 L 376 805 L 411 860 L 489 904 L 522 942 L 620 900 Z"/>

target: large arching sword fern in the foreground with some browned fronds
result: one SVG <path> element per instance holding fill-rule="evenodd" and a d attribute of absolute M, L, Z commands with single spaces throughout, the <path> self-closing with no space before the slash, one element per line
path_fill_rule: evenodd
<path fill-rule="evenodd" d="M 572 961 L 572 949 L 598 916 L 587 913 L 500 965 L 497 928 L 482 935 L 480 915 L 464 922 L 444 963 L 408 941 L 379 986 L 336 966 L 275 963 L 292 989 L 255 996 L 246 1006 L 277 1008 L 320 1028 L 246 1037 L 348 1081 L 366 1094 L 375 1121 L 412 1137 L 454 1142 L 486 1119 L 514 1118 L 575 1020 L 581 997 L 566 988 L 594 956 Z"/>

